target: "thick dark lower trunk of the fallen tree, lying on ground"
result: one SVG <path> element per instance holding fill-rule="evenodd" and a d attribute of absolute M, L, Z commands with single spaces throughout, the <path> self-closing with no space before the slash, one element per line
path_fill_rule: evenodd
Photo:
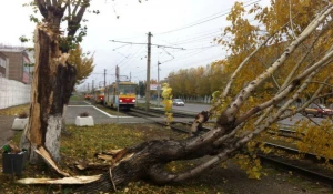
<path fill-rule="evenodd" d="M 204 170 L 206 166 L 200 167 L 200 171 L 194 170 L 183 174 L 172 174 L 164 170 L 169 162 L 215 155 L 221 149 L 221 146 L 214 147 L 206 144 L 206 142 L 204 143 L 198 136 L 183 141 L 153 140 L 143 142 L 117 153 L 113 156 L 114 163 L 110 171 L 104 173 L 99 181 L 79 187 L 77 192 L 110 192 L 117 186 L 138 180 L 150 180 L 160 185 L 181 182 L 198 176 L 198 174 L 203 172 L 201 170 Z"/>

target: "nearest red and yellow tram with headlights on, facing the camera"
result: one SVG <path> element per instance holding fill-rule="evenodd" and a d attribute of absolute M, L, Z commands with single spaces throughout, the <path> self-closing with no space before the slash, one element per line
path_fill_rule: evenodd
<path fill-rule="evenodd" d="M 105 88 L 104 105 L 109 108 L 130 109 L 135 106 L 137 83 L 119 82 Z M 119 95 L 118 95 L 119 94 Z"/>

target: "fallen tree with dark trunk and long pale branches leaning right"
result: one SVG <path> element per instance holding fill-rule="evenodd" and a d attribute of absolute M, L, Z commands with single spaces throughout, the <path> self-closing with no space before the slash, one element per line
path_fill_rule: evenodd
<path fill-rule="evenodd" d="M 307 27 L 304 27 L 303 31 L 290 41 L 284 52 L 231 99 L 230 89 L 234 84 L 238 73 L 260 50 L 265 49 L 268 41 L 273 39 L 278 32 L 272 32 L 260 45 L 252 49 L 252 53 L 238 65 L 238 70 L 231 75 L 224 91 L 215 95 L 216 99 L 212 109 L 198 114 L 191 129 L 192 132 L 196 132 L 209 118 L 216 116 L 214 130 L 182 141 L 154 140 L 124 149 L 114 155 L 113 165 L 109 172 L 105 172 L 99 181 L 88 184 L 79 191 L 88 193 L 91 191 L 110 191 L 118 185 L 141 178 L 148 178 L 157 184 L 169 184 L 195 177 L 233 157 L 241 147 L 278 121 L 301 112 L 304 108 L 292 108 L 293 103 L 296 99 L 302 98 L 313 79 L 322 79 L 323 83 L 327 83 L 331 78 L 331 74 L 323 72 L 332 69 L 333 45 L 332 37 L 330 37 L 332 33 L 330 28 L 332 27 L 332 19 L 330 18 L 332 10 L 332 3 L 317 10 L 312 22 L 309 22 Z M 281 27 L 281 29 L 284 28 L 285 25 Z M 263 98 L 264 100 L 256 104 L 251 102 L 254 92 L 265 81 L 270 80 L 287 59 L 293 54 L 296 54 L 294 58 L 297 58 L 300 53 L 295 50 L 301 44 L 305 45 L 305 40 L 310 42 L 313 40 L 312 49 L 314 49 L 320 39 L 329 40 L 329 47 L 322 50 L 315 60 L 306 61 L 305 64 L 302 63 L 302 71 L 291 71 L 287 74 L 289 79 L 284 80 L 284 86 L 272 98 L 268 100 Z M 317 90 L 323 90 L 323 86 L 319 86 Z M 304 106 L 319 98 L 319 93 L 320 91 L 309 99 Z M 332 95 L 332 93 L 327 93 L 327 95 Z M 269 113 L 259 118 L 264 111 Z M 165 170 L 165 165 L 171 161 L 193 160 L 206 155 L 211 157 L 185 172 L 172 173 Z"/>

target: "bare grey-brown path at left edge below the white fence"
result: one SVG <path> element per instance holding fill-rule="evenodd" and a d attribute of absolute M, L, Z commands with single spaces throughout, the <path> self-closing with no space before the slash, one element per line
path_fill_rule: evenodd
<path fill-rule="evenodd" d="M 11 130 L 14 119 L 16 116 L 12 115 L 0 115 L 0 146 L 1 147 L 3 144 L 10 141 L 16 133 L 16 131 Z"/>

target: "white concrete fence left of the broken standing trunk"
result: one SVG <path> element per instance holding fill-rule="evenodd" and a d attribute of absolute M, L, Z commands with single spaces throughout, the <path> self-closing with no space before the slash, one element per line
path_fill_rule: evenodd
<path fill-rule="evenodd" d="M 31 85 L 0 78 L 0 109 L 30 102 Z"/>

